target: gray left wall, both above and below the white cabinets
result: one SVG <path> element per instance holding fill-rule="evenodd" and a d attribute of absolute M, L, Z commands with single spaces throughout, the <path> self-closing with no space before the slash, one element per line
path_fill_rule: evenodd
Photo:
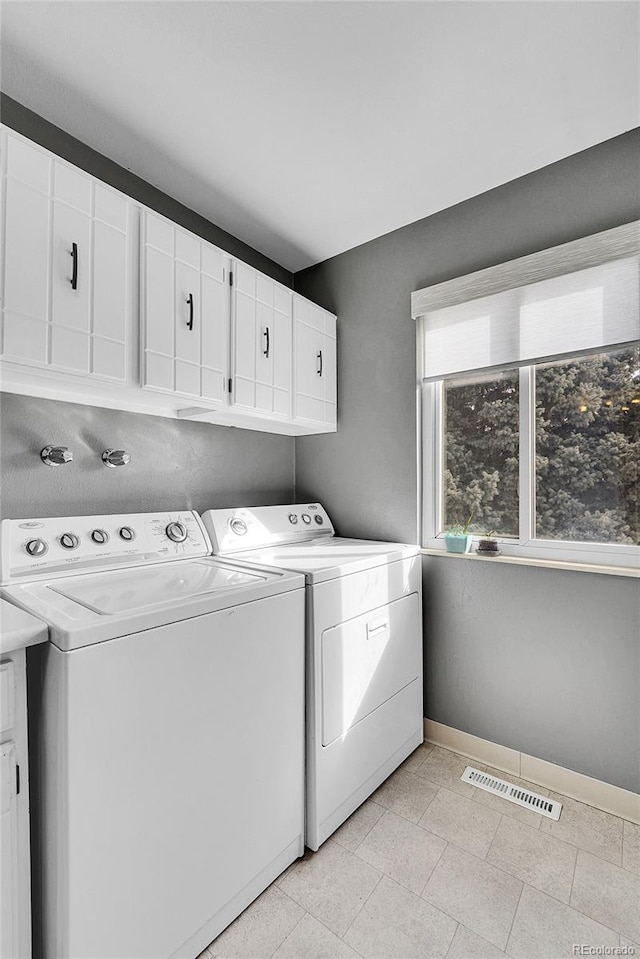
<path fill-rule="evenodd" d="M 0 95 L 0 109 L 7 126 L 291 285 L 291 273 L 277 263 L 15 100 Z M 294 440 L 288 436 L 5 393 L 0 395 L 0 427 L 3 518 L 202 510 L 293 500 Z M 74 462 L 58 469 L 45 466 L 39 451 L 48 443 L 69 446 Z M 131 463 L 106 469 L 99 454 L 108 448 L 126 449 Z"/>

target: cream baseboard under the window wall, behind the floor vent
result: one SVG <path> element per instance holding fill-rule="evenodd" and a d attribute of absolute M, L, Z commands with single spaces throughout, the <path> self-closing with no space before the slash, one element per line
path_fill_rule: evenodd
<path fill-rule="evenodd" d="M 476 762 L 527 779 L 538 786 L 552 789 L 563 796 L 570 796 L 588 806 L 595 806 L 640 825 L 638 793 L 592 779 L 573 769 L 565 769 L 564 766 L 556 766 L 545 759 L 527 756 L 516 749 L 500 746 L 488 739 L 480 739 L 460 729 L 436 723 L 432 719 L 424 721 L 424 737 L 436 746 L 451 749 L 469 759 L 475 759 Z"/>

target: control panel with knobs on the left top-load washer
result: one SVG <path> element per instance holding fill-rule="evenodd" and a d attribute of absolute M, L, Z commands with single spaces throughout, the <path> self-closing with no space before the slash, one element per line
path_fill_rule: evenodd
<path fill-rule="evenodd" d="M 189 510 L 7 519 L 0 524 L 0 582 L 191 559 L 210 552 L 202 521 Z"/>

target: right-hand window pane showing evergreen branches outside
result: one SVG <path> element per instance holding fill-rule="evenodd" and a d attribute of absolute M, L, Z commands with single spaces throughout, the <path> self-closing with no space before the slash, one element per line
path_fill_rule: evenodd
<path fill-rule="evenodd" d="M 640 350 L 535 369 L 535 534 L 640 545 Z"/>

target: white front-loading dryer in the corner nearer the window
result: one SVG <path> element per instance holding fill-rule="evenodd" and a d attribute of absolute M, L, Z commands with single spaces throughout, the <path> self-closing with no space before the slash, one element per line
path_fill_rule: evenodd
<path fill-rule="evenodd" d="M 306 843 L 317 849 L 423 740 L 417 546 L 334 535 L 319 503 L 210 510 L 214 552 L 306 580 Z"/>

